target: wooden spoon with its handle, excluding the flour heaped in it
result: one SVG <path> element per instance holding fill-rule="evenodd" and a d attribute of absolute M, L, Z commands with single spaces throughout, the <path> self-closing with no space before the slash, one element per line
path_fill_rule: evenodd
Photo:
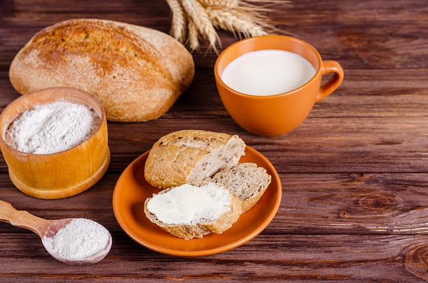
<path fill-rule="evenodd" d="M 16 227 L 31 230 L 38 234 L 40 239 L 42 239 L 42 243 L 46 251 L 49 252 L 49 254 L 51 254 L 51 256 L 53 256 L 57 260 L 70 265 L 86 265 L 99 262 L 100 260 L 105 258 L 105 256 L 107 256 L 110 251 L 112 243 L 111 234 L 108 231 L 107 232 L 109 235 L 109 239 L 107 241 L 107 245 L 105 245 L 105 247 L 103 247 L 102 249 L 98 250 L 98 252 L 96 252 L 96 254 L 93 254 L 92 256 L 75 259 L 67 258 L 64 255 L 55 252 L 55 250 L 53 249 L 53 245 L 49 243 L 51 241 L 46 240 L 49 240 L 49 238 L 54 237 L 55 234 L 57 234 L 57 232 L 64 228 L 64 226 L 66 226 L 68 223 L 70 223 L 72 219 L 73 218 L 57 220 L 42 219 L 40 217 L 32 215 L 31 213 L 28 213 L 27 211 L 18 211 L 9 202 L 4 202 L 3 200 L 0 200 L 0 221 L 7 222 Z"/>

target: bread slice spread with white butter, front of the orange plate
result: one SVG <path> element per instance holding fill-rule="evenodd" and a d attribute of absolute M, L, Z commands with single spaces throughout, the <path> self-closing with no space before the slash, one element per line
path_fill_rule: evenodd
<path fill-rule="evenodd" d="M 182 239 L 221 234 L 239 219 L 241 209 L 233 193 L 214 183 L 165 189 L 144 202 L 150 221 Z"/>

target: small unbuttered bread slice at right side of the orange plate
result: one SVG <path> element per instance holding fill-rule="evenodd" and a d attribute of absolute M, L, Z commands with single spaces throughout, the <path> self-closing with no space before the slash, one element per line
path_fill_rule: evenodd
<path fill-rule="evenodd" d="M 242 212 L 248 211 L 260 200 L 271 183 L 266 169 L 255 163 L 238 163 L 217 172 L 207 181 L 228 188 L 242 202 Z"/>

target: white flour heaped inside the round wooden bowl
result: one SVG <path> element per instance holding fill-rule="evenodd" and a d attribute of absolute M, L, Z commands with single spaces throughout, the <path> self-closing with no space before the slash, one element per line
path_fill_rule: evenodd
<path fill-rule="evenodd" d="M 99 121 L 98 114 L 86 105 L 66 101 L 38 105 L 12 122 L 6 141 L 21 152 L 61 152 L 88 139 Z"/>

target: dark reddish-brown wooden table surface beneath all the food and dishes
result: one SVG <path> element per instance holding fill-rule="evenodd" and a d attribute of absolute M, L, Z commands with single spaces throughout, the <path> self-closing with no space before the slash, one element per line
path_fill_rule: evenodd
<path fill-rule="evenodd" d="M 213 52 L 193 53 L 190 89 L 164 116 L 109 122 L 111 164 L 94 187 L 62 200 L 21 193 L 0 158 L 0 199 L 39 217 L 86 217 L 113 236 L 95 265 L 65 265 L 33 232 L 0 223 L 0 282 L 424 282 L 428 280 L 428 5 L 425 0 L 293 0 L 269 14 L 277 27 L 340 62 L 343 84 L 295 131 L 258 137 L 228 116 Z M 0 1 L 0 107 L 18 98 L 14 55 L 37 31 L 70 18 L 105 18 L 169 33 L 159 1 Z M 219 31 L 223 46 L 237 39 Z M 162 135 L 180 129 L 238 134 L 276 167 L 282 200 L 256 238 L 202 257 L 159 254 L 113 215 L 120 174 Z"/>

